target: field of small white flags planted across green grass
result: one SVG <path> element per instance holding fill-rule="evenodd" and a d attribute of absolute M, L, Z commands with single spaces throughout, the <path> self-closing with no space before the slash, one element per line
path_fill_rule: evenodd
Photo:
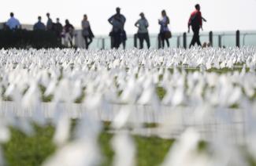
<path fill-rule="evenodd" d="M 138 137 L 173 140 L 158 165 L 256 163 L 255 47 L 2 49 L 0 70 L 0 165 L 13 131 L 48 126 L 46 166 L 104 165 L 102 133 L 115 166 L 159 160 L 140 162 Z"/>

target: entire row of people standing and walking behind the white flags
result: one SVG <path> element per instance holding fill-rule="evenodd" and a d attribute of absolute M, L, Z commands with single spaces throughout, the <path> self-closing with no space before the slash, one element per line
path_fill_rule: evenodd
<path fill-rule="evenodd" d="M 126 18 L 124 15 L 121 14 L 121 9 L 117 7 L 116 12 L 113 16 L 109 18 L 109 23 L 112 25 L 112 30 L 109 33 L 111 38 L 111 49 L 118 49 L 122 44 L 125 49 L 125 42 L 127 40 L 126 32 L 124 31 L 124 24 Z M 74 36 L 75 28 L 69 23 L 69 20 L 65 20 L 65 26 L 63 27 L 60 23 L 59 18 L 56 19 L 56 23 L 53 22 L 50 18 L 50 13 L 46 13 L 47 22 L 46 25 L 42 22 L 42 17 L 38 17 L 38 22 L 35 23 L 33 29 L 34 31 L 54 31 L 58 37 L 58 40 L 61 41 L 61 38 L 65 38 L 65 41 L 68 41 L 71 46 L 72 45 L 72 38 Z M 135 22 L 135 27 L 138 27 L 137 37 L 139 38 L 139 49 L 143 49 L 143 42 L 147 43 L 147 48 L 150 48 L 150 37 L 148 32 L 149 23 L 147 21 L 146 16 L 144 13 L 139 14 L 140 19 Z M 202 21 L 206 22 L 206 19 L 202 17 L 202 13 L 200 11 L 200 5 L 195 5 L 195 11 L 191 13 L 191 16 L 188 20 L 188 33 L 190 29 L 192 29 L 194 35 L 191 40 L 190 47 L 192 45 L 202 46 L 199 40 L 199 31 L 202 29 Z M 161 48 L 165 47 L 165 42 L 169 47 L 169 38 L 172 38 L 172 33 L 169 30 L 169 16 L 167 16 L 165 10 L 161 11 L 161 19 L 158 20 L 160 25 L 160 33 L 158 34 L 158 38 L 161 41 Z M 17 29 L 20 28 L 20 22 L 14 17 L 13 13 L 10 13 L 10 18 L 6 22 L 6 26 L 9 29 Z M 82 27 L 82 35 L 85 42 L 85 48 L 88 49 L 89 45 L 93 41 L 95 35 L 91 31 L 91 26 L 88 21 L 87 15 L 83 15 L 83 20 L 81 22 Z"/>

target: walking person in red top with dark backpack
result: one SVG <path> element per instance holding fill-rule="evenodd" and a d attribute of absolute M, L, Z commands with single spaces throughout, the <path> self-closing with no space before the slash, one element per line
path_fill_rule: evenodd
<path fill-rule="evenodd" d="M 195 5 L 195 11 L 191 13 L 191 16 L 188 20 L 188 33 L 190 33 L 190 27 L 192 27 L 192 31 L 194 33 L 189 48 L 191 48 L 192 45 L 194 46 L 195 43 L 197 43 L 198 46 L 202 46 L 200 42 L 199 31 L 200 28 L 202 29 L 202 20 L 206 22 L 206 19 L 202 17 L 200 9 L 201 7 L 199 4 Z"/>

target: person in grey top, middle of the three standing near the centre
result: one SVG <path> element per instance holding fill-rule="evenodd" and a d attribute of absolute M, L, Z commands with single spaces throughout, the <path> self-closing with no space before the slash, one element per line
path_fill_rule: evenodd
<path fill-rule="evenodd" d="M 147 30 L 149 23 L 144 13 L 140 13 L 139 16 L 141 18 L 135 23 L 135 27 L 138 27 L 139 49 L 143 49 L 144 40 L 147 42 L 147 48 L 150 49 L 150 37 Z"/>

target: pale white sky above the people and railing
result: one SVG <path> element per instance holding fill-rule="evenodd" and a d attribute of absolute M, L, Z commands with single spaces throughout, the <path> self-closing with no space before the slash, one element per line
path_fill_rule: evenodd
<path fill-rule="evenodd" d="M 80 28 L 83 14 L 87 14 L 92 31 L 96 35 L 109 34 L 111 25 L 108 18 L 115 13 L 117 6 L 126 16 L 125 30 L 127 34 L 137 31 L 134 23 L 139 19 L 139 13 L 145 13 L 150 23 L 149 31 L 157 34 L 158 19 L 161 10 L 165 9 L 170 19 L 170 29 L 173 32 L 187 31 L 187 20 L 195 9 L 195 4 L 201 5 L 202 16 L 207 23 L 204 31 L 236 31 L 256 30 L 256 0 L 2 0 L 0 5 L 0 22 L 9 19 L 13 12 L 20 23 L 34 24 L 38 16 L 46 13 L 51 18 L 57 17 L 64 23 L 69 19 L 76 28 Z"/>

